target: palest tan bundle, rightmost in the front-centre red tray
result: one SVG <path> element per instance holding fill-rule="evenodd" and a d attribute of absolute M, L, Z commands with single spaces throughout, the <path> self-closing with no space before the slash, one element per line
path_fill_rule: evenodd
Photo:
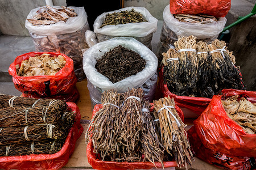
<path fill-rule="evenodd" d="M 187 164 L 192 163 L 193 154 L 185 134 L 185 125 L 174 106 L 174 99 L 170 97 L 154 100 L 154 108 L 158 113 L 160 124 L 160 141 L 165 151 L 174 156 L 178 167 L 185 165 L 187 169 Z"/>

